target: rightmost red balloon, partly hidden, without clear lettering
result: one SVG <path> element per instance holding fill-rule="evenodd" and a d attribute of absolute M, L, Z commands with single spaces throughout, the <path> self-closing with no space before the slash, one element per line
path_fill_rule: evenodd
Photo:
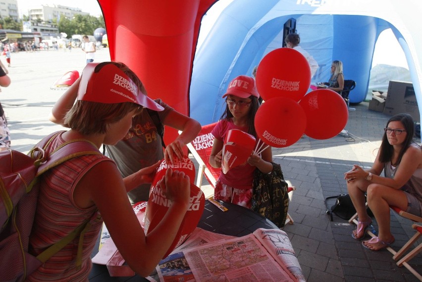
<path fill-rule="evenodd" d="M 349 117 L 346 102 L 337 92 L 318 89 L 300 102 L 308 120 L 305 134 L 315 139 L 329 139 L 344 129 Z"/>

